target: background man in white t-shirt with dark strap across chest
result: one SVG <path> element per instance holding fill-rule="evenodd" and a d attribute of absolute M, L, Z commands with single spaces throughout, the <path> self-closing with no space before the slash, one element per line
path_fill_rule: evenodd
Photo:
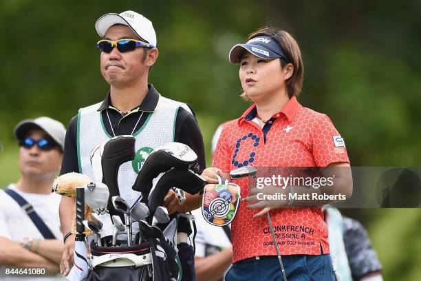
<path fill-rule="evenodd" d="M 21 121 L 14 129 L 21 178 L 0 191 L 1 280 L 62 279 L 54 276 L 63 253 L 61 198 L 51 189 L 61 167 L 65 134 L 63 124 L 48 117 Z"/>

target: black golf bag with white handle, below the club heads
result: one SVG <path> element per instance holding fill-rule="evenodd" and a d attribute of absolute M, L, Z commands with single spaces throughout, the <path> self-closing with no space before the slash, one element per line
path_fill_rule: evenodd
<path fill-rule="evenodd" d="M 157 229 L 155 227 L 153 233 L 145 231 L 145 241 L 131 247 L 99 247 L 92 240 L 89 244 L 91 271 L 85 280 L 181 280 L 174 241 L 177 218 L 173 218 L 164 231 Z"/>

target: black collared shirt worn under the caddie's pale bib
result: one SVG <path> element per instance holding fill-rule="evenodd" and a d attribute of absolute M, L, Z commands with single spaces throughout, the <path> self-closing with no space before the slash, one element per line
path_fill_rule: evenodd
<path fill-rule="evenodd" d="M 147 120 L 149 114 L 153 113 L 156 105 L 158 104 L 160 94 L 155 90 L 153 85 L 148 84 L 148 87 L 149 92 L 142 103 L 127 113 L 120 112 L 120 110 L 114 107 L 111 104 L 110 94 L 107 94 L 104 101 L 102 101 L 102 104 L 98 108 L 98 111 L 102 114 L 105 130 L 110 136 L 131 134 L 133 130 L 134 132 L 138 131 L 138 129 L 140 129 Z M 76 173 L 80 172 L 76 145 L 77 119 L 78 116 L 74 116 L 67 129 L 63 163 L 60 171 L 61 175 L 72 171 Z M 182 107 L 178 110 L 177 118 L 175 120 L 174 141 L 184 143 L 191 147 L 191 149 L 193 149 L 197 154 L 197 160 L 200 168 L 204 169 L 206 163 L 202 133 L 200 132 L 195 116 L 190 114 L 187 110 L 184 110 Z"/>

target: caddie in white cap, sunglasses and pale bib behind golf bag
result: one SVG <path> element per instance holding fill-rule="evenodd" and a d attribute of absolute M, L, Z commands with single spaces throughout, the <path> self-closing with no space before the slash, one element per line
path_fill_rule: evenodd
<path fill-rule="evenodd" d="M 120 196 L 133 205 L 140 193 L 131 187 L 142 164 L 153 149 L 170 142 L 184 143 L 198 156 L 199 166 L 204 169 L 204 144 L 197 121 L 188 105 L 161 96 L 148 83 L 149 70 L 158 58 L 155 30 L 149 19 L 133 11 L 105 14 L 96 21 L 96 31 L 101 40 L 100 72 L 110 85 L 104 101 L 79 110 L 69 124 L 65 139 L 65 154 L 61 174 L 78 172 L 94 178 L 90 153 L 97 145 L 119 135 L 136 138 L 136 157 L 132 163 L 124 163 L 118 174 Z M 170 190 L 164 199 L 169 214 L 197 209 L 201 204 L 199 195 L 186 194 L 186 201 L 179 200 Z M 72 267 L 74 236 L 72 208 L 74 198 L 61 200 L 60 217 L 65 234 L 65 251 L 61 271 L 66 274 Z M 180 229 L 183 226 L 186 229 Z M 189 231 L 189 222 L 180 222 L 179 231 Z M 191 231 L 191 230 L 190 230 Z M 183 236 L 184 240 L 187 236 Z M 193 260 L 193 249 L 182 239 L 179 245 L 180 260 L 188 253 Z M 187 247 L 188 246 L 188 247 Z M 185 247 L 185 249 L 184 249 Z M 193 264 L 193 262 L 192 262 Z M 192 269 L 192 267 L 188 267 Z M 183 268 L 183 279 L 188 275 Z"/>

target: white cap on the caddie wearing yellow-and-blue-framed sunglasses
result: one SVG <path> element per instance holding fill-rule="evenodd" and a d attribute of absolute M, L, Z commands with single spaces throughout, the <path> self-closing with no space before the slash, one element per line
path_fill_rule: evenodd
<path fill-rule="evenodd" d="M 105 37 L 105 33 L 107 30 L 115 24 L 122 24 L 127 25 L 133 32 L 143 39 L 147 41 L 153 47 L 156 47 L 156 34 L 155 30 L 153 29 L 152 22 L 149 19 L 142 16 L 142 14 L 138 14 L 137 12 L 133 11 L 125 11 L 121 12 L 120 14 L 110 13 L 104 14 L 102 17 L 98 19 L 95 23 L 96 32 L 98 32 L 101 38 Z"/>

